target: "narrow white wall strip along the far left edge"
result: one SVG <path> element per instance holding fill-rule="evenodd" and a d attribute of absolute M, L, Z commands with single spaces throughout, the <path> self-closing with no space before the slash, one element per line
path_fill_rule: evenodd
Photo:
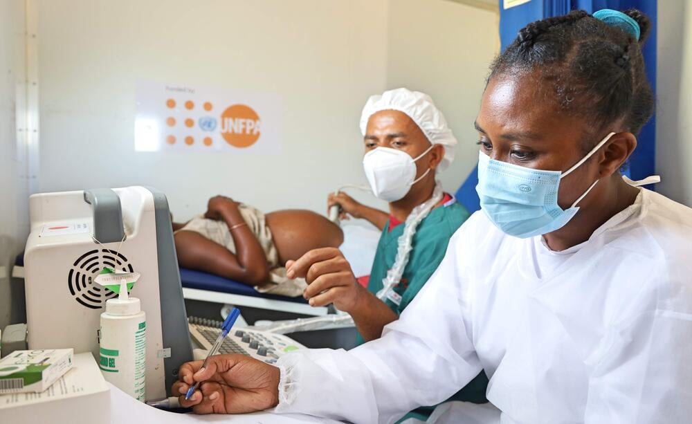
<path fill-rule="evenodd" d="M 9 277 L 28 235 L 24 13 L 24 0 L 0 0 L 0 329 L 24 311 L 10 311 L 24 296 Z"/>

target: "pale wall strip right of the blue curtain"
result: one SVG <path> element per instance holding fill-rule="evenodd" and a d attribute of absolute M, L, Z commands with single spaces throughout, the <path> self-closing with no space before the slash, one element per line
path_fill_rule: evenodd
<path fill-rule="evenodd" d="M 658 2 L 657 190 L 692 206 L 692 0 Z"/>

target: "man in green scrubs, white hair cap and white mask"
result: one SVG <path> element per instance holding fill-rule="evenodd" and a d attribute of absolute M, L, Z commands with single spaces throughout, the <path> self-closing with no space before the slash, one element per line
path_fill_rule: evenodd
<path fill-rule="evenodd" d="M 338 205 L 342 219 L 366 219 L 382 230 L 367 290 L 338 249 L 312 250 L 286 264 L 289 278 L 305 277 L 309 285 L 303 295 L 312 306 L 333 303 L 353 317 L 359 344 L 380 338 L 384 326 L 399 318 L 469 215 L 435 179 L 453 160 L 457 140 L 428 95 L 396 89 L 372 96 L 363 109 L 361 132 L 365 175 L 374 195 L 388 201 L 389 213 L 345 193 L 330 195 L 328 205 Z M 411 247 L 408 255 L 400 245 Z M 487 402 L 487 384 L 482 372 L 453 399 Z M 431 411 L 421 408 L 409 416 L 425 418 Z"/>

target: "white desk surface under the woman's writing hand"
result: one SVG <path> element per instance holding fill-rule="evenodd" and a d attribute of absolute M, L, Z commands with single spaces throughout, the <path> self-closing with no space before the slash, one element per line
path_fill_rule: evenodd
<path fill-rule="evenodd" d="M 272 414 L 255 412 L 242 415 L 195 415 L 175 414 L 150 407 L 131 398 L 124 391 L 107 383 L 111 389 L 111 424 L 161 423 L 231 423 L 231 424 L 300 424 L 300 423 L 338 423 L 327 418 L 315 418 L 300 414 Z"/>

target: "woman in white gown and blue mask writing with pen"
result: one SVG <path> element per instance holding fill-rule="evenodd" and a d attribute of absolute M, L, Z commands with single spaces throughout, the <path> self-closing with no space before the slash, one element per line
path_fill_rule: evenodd
<path fill-rule="evenodd" d="M 619 174 L 653 112 L 648 26 L 629 10 L 522 29 L 477 117 L 482 212 L 400 319 L 278 367 L 218 356 L 193 377 L 200 362 L 185 364 L 174 391 L 203 384 L 183 405 L 392 423 L 484 369 L 485 421 L 689 422 L 692 210 Z M 340 272 L 311 257 L 290 268 L 309 283 Z M 477 407 L 439 408 L 431 418 L 459 422 Z"/>

